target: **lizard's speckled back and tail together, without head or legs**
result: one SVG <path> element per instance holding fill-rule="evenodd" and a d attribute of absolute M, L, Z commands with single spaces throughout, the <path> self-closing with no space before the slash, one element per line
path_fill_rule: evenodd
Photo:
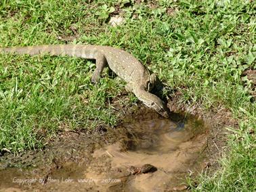
<path fill-rule="evenodd" d="M 122 49 L 101 45 L 38 45 L 28 47 L 0 48 L 1 52 L 37 55 L 70 55 L 85 59 L 97 59 L 102 54 L 110 69 L 126 82 L 140 82 L 148 78 L 148 71 L 130 53 Z"/>

